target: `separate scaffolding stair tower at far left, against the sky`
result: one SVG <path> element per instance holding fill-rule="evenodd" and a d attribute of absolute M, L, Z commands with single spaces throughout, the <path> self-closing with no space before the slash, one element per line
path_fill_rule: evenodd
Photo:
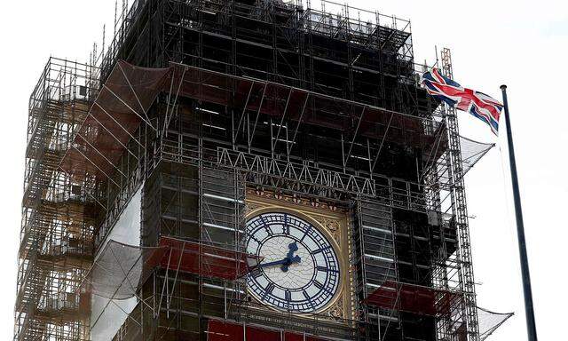
<path fill-rule="evenodd" d="M 91 266 L 97 208 L 90 178 L 76 182 L 59 170 L 95 93 L 96 67 L 49 59 L 29 101 L 22 199 L 15 340 L 87 340 L 76 295 Z"/>

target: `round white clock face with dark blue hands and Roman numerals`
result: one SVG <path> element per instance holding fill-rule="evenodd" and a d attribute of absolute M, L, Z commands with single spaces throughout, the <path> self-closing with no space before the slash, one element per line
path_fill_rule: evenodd
<path fill-rule="evenodd" d="M 263 258 L 247 286 L 262 303 L 312 313 L 335 297 L 339 262 L 316 226 L 289 213 L 264 213 L 248 220 L 247 235 L 247 252 Z"/>

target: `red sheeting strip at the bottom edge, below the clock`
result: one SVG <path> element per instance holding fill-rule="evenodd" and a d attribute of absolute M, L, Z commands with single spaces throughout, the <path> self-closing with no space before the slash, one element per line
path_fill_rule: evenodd
<path fill-rule="evenodd" d="M 309 336 L 283 329 L 265 329 L 230 321 L 209 320 L 208 341 L 326 341 L 326 338 Z"/>

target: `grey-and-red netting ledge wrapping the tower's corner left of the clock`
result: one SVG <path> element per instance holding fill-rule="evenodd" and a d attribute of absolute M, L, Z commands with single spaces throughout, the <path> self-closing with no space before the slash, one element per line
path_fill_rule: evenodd
<path fill-rule="evenodd" d="M 81 288 L 100 297 L 136 296 L 156 266 L 172 272 L 234 281 L 257 266 L 260 258 L 244 252 L 162 236 L 157 247 L 110 240 L 93 262 Z"/>

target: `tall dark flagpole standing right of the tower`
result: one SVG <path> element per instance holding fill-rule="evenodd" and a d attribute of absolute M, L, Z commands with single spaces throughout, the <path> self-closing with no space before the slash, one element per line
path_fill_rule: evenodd
<path fill-rule="evenodd" d="M 529 261 L 526 253 L 525 225 L 523 224 L 523 210 L 521 209 L 521 195 L 518 190 L 517 163 L 515 161 L 515 148 L 513 147 L 513 136 L 511 134 L 511 120 L 509 115 L 509 105 L 507 103 L 507 85 L 501 85 L 503 95 L 503 106 L 507 121 L 507 142 L 509 144 L 509 165 L 511 168 L 511 181 L 513 183 L 513 199 L 515 200 L 515 215 L 517 216 L 517 239 L 518 251 L 521 261 L 521 274 L 523 277 L 523 293 L 525 295 L 525 316 L 526 330 L 529 341 L 537 341 L 536 323 L 534 322 L 533 290 L 531 289 L 531 274 L 529 272 Z"/>

